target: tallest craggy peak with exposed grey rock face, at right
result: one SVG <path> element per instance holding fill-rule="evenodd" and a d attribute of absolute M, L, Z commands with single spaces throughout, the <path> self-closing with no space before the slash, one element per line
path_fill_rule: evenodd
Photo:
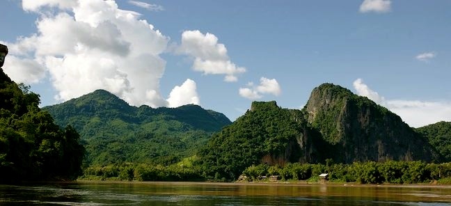
<path fill-rule="evenodd" d="M 427 139 L 399 116 L 341 86 L 322 84 L 312 90 L 304 112 L 308 123 L 330 144 L 335 161 L 436 158 Z"/>

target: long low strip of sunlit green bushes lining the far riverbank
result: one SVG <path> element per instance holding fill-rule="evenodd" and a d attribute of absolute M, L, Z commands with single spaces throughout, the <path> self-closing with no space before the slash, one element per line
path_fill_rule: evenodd
<path fill-rule="evenodd" d="M 318 182 L 318 175 L 329 173 L 329 182 L 355 182 L 359 184 L 451 184 L 451 163 L 427 164 L 424 161 L 354 162 L 353 164 L 290 163 L 285 166 L 259 164 L 242 171 L 248 182 L 269 181 L 276 175 L 279 181 Z M 267 178 L 265 178 L 267 177 Z M 226 180 L 220 173 L 209 176 L 199 166 L 173 164 L 120 164 L 91 166 L 79 180 L 136 180 L 136 181 L 235 181 Z"/>

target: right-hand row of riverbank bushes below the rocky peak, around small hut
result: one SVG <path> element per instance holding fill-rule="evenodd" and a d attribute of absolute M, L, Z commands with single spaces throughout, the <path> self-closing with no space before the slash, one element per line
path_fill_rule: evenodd
<path fill-rule="evenodd" d="M 329 162 L 330 163 L 330 162 Z M 283 181 L 303 180 L 318 182 L 319 174 L 329 173 L 330 182 L 356 182 L 359 184 L 416 184 L 434 182 L 450 184 L 451 163 L 426 164 L 423 161 L 354 162 L 353 164 L 286 164 L 283 167 L 260 164 L 249 166 L 242 174 L 249 181 L 278 171 Z"/>

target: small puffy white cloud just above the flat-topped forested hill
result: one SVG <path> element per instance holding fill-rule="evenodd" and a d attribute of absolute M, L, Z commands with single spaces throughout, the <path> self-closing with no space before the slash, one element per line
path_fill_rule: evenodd
<path fill-rule="evenodd" d="M 249 100 L 261 99 L 265 94 L 278 96 L 282 93 L 276 79 L 262 77 L 258 86 L 254 86 L 253 82 L 249 82 L 247 86 L 251 88 L 239 88 L 239 95 Z"/>

